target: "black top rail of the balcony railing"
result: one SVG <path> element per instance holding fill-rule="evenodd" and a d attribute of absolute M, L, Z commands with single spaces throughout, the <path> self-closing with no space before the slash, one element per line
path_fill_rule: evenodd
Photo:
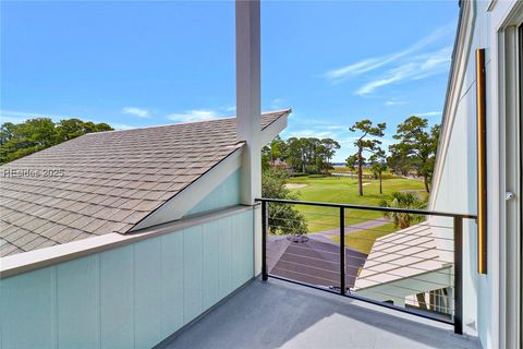
<path fill-rule="evenodd" d="M 391 212 L 391 213 L 397 212 L 397 213 L 405 213 L 405 214 L 413 214 L 413 215 L 477 219 L 477 216 L 472 215 L 472 214 L 455 214 L 455 213 L 427 210 L 427 209 L 393 208 L 393 207 L 381 207 L 381 206 L 336 204 L 336 203 L 323 203 L 323 202 L 314 202 L 314 201 L 300 201 L 300 200 L 287 200 L 287 198 L 267 198 L 267 197 L 256 198 L 256 201 L 257 202 L 267 202 L 267 203 L 299 204 L 299 205 L 309 205 L 309 206 L 338 207 L 338 208 Z"/>

